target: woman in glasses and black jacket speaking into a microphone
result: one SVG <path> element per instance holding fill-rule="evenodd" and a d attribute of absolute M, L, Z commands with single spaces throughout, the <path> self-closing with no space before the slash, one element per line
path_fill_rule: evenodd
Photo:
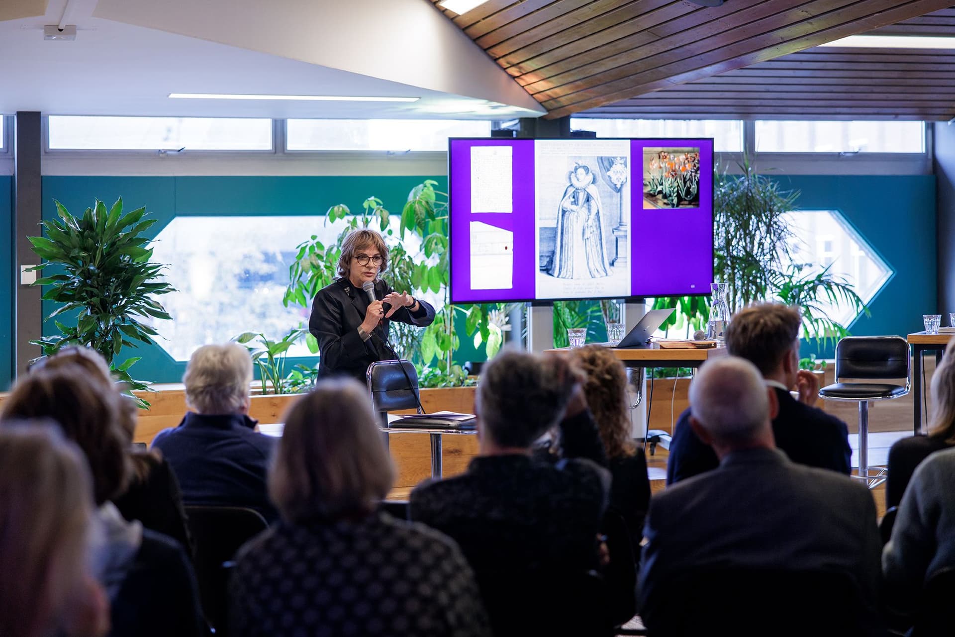
<path fill-rule="evenodd" d="M 308 330 L 318 340 L 319 377 L 346 375 L 365 384 L 371 363 L 395 358 L 388 343 L 392 321 L 426 328 L 435 320 L 430 304 L 383 281 L 386 271 L 388 245 L 381 233 L 352 230 L 342 242 L 339 278 L 318 291 L 308 319 Z M 368 284 L 374 301 L 363 289 Z"/>

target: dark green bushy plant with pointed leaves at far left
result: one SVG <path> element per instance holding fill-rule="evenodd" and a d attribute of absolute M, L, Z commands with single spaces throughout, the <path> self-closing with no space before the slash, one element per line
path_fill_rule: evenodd
<path fill-rule="evenodd" d="M 129 373 L 139 357 L 118 364 L 116 357 L 124 346 L 153 343 L 157 332 L 142 319 L 170 318 L 155 297 L 175 290 L 159 281 L 163 265 L 150 261 L 153 250 L 143 235 L 157 220 L 143 219 L 145 207 L 123 214 L 121 198 L 108 210 L 96 200 L 81 217 L 55 203 L 58 218 L 41 223 L 46 236 L 30 242 L 45 262 L 32 269 L 55 268 L 33 284 L 47 287 L 44 300 L 60 304 L 45 320 L 62 321 L 54 321 L 59 334 L 31 342 L 43 356 L 70 345 L 93 348 L 129 390 L 147 390 L 148 383 Z"/>

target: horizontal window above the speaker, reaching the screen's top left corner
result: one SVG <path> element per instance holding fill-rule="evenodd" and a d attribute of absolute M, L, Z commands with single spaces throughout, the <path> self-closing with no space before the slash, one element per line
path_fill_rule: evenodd
<path fill-rule="evenodd" d="M 448 138 L 483 138 L 475 119 L 289 119 L 288 150 L 447 151 Z"/>

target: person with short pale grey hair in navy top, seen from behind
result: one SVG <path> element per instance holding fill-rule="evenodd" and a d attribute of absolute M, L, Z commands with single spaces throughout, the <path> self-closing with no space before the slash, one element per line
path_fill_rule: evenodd
<path fill-rule="evenodd" d="M 255 430 L 252 359 L 237 343 L 194 351 L 185 375 L 185 414 L 179 426 L 156 435 L 153 449 L 169 460 L 186 504 L 246 506 L 275 520 L 265 486 L 275 438 Z"/>

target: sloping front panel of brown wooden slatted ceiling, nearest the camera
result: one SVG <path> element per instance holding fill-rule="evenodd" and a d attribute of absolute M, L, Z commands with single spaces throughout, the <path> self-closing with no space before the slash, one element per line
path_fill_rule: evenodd
<path fill-rule="evenodd" d="M 463 15 L 445 13 L 553 118 L 603 112 L 950 2 L 727 0 L 705 8 L 687 0 L 490 0 Z"/>

